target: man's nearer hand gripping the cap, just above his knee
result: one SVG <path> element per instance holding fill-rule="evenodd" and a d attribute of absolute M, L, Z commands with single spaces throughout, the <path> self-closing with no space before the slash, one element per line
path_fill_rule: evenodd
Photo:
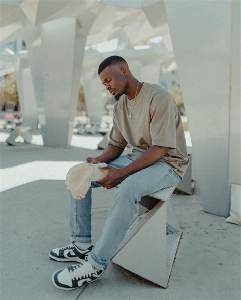
<path fill-rule="evenodd" d="M 96 183 L 101 184 L 107 189 L 111 189 L 122 182 L 127 175 L 122 172 L 121 169 L 113 168 L 113 166 L 106 166 L 104 168 L 98 167 L 100 170 L 109 170 L 109 173 L 101 180 L 96 181 Z"/>

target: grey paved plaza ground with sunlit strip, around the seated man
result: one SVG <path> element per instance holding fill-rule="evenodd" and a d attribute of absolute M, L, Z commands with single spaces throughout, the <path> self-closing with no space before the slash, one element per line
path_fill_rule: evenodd
<path fill-rule="evenodd" d="M 77 139 L 82 147 L 88 139 L 93 143 L 92 137 L 85 137 L 84 143 Z M 183 235 L 167 289 L 112 263 L 99 280 L 86 287 L 61 291 L 52 286 L 52 273 L 71 265 L 48 258 L 52 248 L 69 243 L 64 175 L 69 164 L 100 152 L 1 143 L 1 299 L 238 300 L 240 227 L 205 213 L 198 189 L 192 196 L 174 194 L 171 198 Z M 112 205 L 113 193 L 114 189 L 93 189 L 94 243 Z"/>

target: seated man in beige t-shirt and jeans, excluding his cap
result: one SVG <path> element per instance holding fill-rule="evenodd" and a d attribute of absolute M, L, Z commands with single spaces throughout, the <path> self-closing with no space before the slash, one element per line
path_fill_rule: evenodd
<path fill-rule="evenodd" d="M 98 74 L 116 103 L 109 144 L 100 156 L 88 157 L 87 162 L 106 162 L 108 167 L 103 169 L 109 172 L 102 180 L 92 182 L 83 200 L 70 194 L 72 243 L 49 254 L 56 261 L 80 262 L 52 275 L 53 285 L 63 290 L 78 288 L 104 273 L 138 212 L 141 197 L 178 184 L 189 162 L 180 113 L 168 91 L 139 82 L 119 56 L 106 58 Z M 127 144 L 133 148 L 132 153 L 120 156 Z M 91 189 L 116 185 L 114 204 L 94 247 Z"/>

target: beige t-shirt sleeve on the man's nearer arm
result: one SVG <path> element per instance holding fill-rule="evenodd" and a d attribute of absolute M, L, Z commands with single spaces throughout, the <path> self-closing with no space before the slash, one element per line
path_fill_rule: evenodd
<path fill-rule="evenodd" d="M 150 136 L 152 146 L 176 148 L 177 107 L 174 99 L 163 98 L 159 93 L 154 95 L 150 105 Z"/>

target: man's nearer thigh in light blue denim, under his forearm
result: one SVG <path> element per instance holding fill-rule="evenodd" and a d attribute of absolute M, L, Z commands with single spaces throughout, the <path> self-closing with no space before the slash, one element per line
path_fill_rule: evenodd
<path fill-rule="evenodd" d="M 158 161 L 128 176 L 119 184 L 119 189 L 141 198 L 161 189 L 174 186 L 180 180 L 180 176 L 168 164 Z"/>

